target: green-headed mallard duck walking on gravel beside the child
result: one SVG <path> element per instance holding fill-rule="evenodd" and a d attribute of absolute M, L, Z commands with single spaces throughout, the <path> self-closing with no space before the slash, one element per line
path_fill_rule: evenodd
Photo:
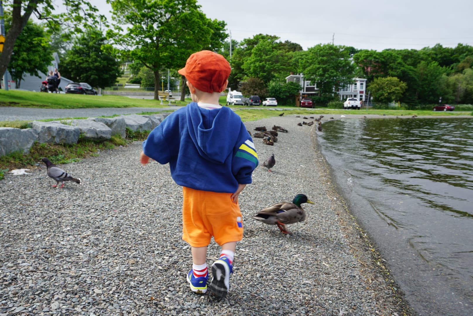
<path fill-rule="evenodd" d="M 302 203 L 315 204 L 307 199 L 306 195 L 298 194 L 292 203 L 273 204 L 259 211 L 253 218 L 268 225 L 277 225 L 281 233 L 290 234 L 285 224 L 300 223 L 306 219 L 306 211 L 300 206 Z"/>

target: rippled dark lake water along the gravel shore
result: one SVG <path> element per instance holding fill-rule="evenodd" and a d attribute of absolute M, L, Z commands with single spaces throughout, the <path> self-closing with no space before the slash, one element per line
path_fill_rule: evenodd
<path fill-rule="evenodd" d="M 473 118 L 341 119 L 317 135 L 416 312 L 473 315 Z"/>

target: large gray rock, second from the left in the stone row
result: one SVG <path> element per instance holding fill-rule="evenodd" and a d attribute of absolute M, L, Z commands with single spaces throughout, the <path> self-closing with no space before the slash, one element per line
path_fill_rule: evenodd
<path fill-rule="evenodd" d="M 80 129 L 77 126 L 58 122 L 33 121 L 31 127 L 38 132 L 40 143 L 76 144 L 79 140 Z"/>

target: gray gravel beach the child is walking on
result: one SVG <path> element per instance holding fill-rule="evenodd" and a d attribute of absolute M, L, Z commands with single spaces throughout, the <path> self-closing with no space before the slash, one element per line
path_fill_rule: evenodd
<path fill-rule="evenodd" d="M 280 132 L 274 146 L 254 138 L 260 166 L 240 194 L 244 238 L 222 301 L 210 290 L 196 295 L 189 289 L 182 189 L 167 165 L 139 164 L 141 142 L 61 165 L 80 185 L 52 188 L 45 166 L 6 174 L 0 181 L 0 316 L 414 315 L 388 274 L 389 263 L 337 194 L 317 148 L 316 124 L 298 126 L 301 121 L 285 115 L 245 123 L 252 133 L 274 124 L 289 132 Z M 272 153 L 276 165 L 268 172 L 263 161 Z M 303 204 L 307 219 L 287 226 L 292 235 L 252 219 L 297 193 L 315 205 Z M 212 241 L 209 266 L 218 255 Z"/>

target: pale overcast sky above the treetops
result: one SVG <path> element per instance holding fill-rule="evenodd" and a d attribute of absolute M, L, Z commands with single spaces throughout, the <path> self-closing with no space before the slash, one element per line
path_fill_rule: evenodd
<path fill-rule="evenodd" d="M 473 0 L 198 0 L 224 20 L 232 39 L 263 33 L 303 49 L 333 43 L 358 49 L 473 45 Z M 107 17 L 105 0 L 92 1 Z M 105 13 L 107 12 L 107 13 Z"/>

